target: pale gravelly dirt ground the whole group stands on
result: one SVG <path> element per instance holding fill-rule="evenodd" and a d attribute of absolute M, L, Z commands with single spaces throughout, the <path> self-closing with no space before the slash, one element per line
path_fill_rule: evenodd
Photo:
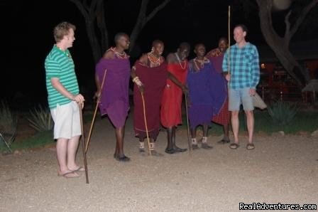
<path fill-rule="evenodd" d="M 245 137 L 244 137 L 245 138 Z M 88 152 L 85 176 L 57 176 L 54 149 L 0 156 L 0 211 L 238 211 L 238 203 L 317 203 L 318 141 L 312 137 L 256 136 L 247 151 L 214 149 L 189 154 L 138 154 L 131 119 L 126 127 L 129 163 L 113 159 L 114 132 L 99 120 Z M 164 153 L 165 132 L 158 137 Z M 185 130 L 177 143 L 187 147 Z M 82 149 L 79 149 L 82 150 Z M 78 161 L 82 164 L 79 151 Z"/>

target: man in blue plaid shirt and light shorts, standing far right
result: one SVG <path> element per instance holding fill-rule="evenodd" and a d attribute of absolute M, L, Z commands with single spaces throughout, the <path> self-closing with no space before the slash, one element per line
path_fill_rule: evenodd
<path fill-rule="evenodd" d="M 238 112 L 241 104 L 246 113 L 248 128 L 248 144 L 246 149 L 254 149 L 253 131 L 253 99 L 256 93 L 256 85 L 260 80 L 259 58 L 256 46 L 245 40 L 247 28 L 239 24 L 234 28 L 234 40 L 236 43 L 226 51 L 223 59 L 222 69 L 229 81 L 229 110 L 231 111 L 231 123 L 234 134 L 234 143 L 231 149 L 238 145 Z M 230 55 L 229 55 L 230 52 Z M 229 60 L 228 60 L 229 58 Z M 228 67 L 230 66 L 230 67 Z"/>

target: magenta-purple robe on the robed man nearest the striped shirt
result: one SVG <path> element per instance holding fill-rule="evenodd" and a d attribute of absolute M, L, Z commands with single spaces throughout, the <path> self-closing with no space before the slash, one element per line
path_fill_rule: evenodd
<path fill-rule="evenodd" d="M 105 71 L 106 78 L 102 88 L 99 110 L 101 115 L 108 115 L 115 127 L 124 127 L 129 110 L 129 59 L 100 59 L 96 65 L 96 74 L 101 86 Z"/>

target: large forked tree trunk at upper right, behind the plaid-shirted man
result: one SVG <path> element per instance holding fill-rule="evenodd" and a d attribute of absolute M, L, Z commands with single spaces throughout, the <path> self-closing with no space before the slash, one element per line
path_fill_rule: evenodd
<path fill-rule="evenodd" d="M 251 1 L 245 1 L 245 3 L 244 1 L 241 2 L 243 2 L 243 7 L 245 9 L 248 7 L 247 4 L 251 4 Z M 304 2 L 305 1 L 302 1 L 302 4 L 304 4 Z M 300 86 L 304 86 L 308 82 L 309 73 L 305 67 L 302 67 L 302 65 L 297 62 L 295 56 L 290 52 L 289 47 L 292 36 L 294 36 L 300 28 L 307 14 L 309 14 L 309 11 L 311 11 L 314 6 L 317 6 L 318 0 L 310 0 L 306 2 L 307 4 L 302 6 L 302 8 L 300 8 L 300 5 L 294 4 L 294 7 L 291 7 L 289 11 L 287 11 L 284 20 L 285 33 L 283 36 L 280 36 L 273 27 L 273 0 L 256 0 L 258 16 L 261 23 L 261 31 L 266 43 L 268 43 L 268 46 L 272 48 L 287 73 L 289 73 Z M 295 7 L 298 9 L 297 12 L 295 12 Z"/>

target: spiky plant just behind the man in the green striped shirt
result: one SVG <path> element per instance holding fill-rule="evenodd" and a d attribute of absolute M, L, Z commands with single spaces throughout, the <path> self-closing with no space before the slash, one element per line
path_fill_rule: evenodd
<path fill-rule="evenodd" d="M 30 126 L 38 130 L 38 132 L 48 131 L 53 129 L 53 119 L 48 108 L 41 105 L 30 110 L 31 118 L 27 120 Z"/>

